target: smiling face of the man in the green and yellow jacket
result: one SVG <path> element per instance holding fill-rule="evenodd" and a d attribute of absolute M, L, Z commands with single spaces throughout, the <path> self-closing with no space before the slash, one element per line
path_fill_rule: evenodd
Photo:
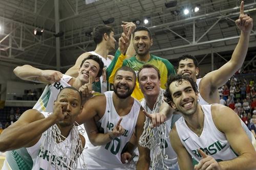
<path fill-rule="evenodd" d="M 145 56 L 150 52 L 153 40 L 147 31 L 137 31 L 134 33 L 133 46 L 138 56 Z"/>

